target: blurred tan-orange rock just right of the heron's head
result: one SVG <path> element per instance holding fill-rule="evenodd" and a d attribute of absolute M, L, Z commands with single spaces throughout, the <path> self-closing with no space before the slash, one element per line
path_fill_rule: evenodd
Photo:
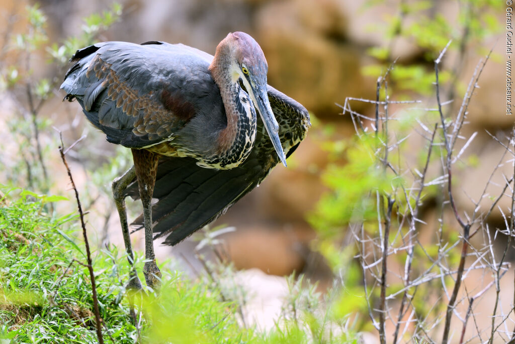
<path fill-rule="evenodd" d="M 269 83 L 317 116 L 334 120 L 341 112 L 335 102 L 372 97 L 375 91 L 373 81 L 361 75 L 364 50 L 346 42 L 341 6 L 321 3 L 267 4 L 256 14 L 256 39 L 268 61 Z"/>

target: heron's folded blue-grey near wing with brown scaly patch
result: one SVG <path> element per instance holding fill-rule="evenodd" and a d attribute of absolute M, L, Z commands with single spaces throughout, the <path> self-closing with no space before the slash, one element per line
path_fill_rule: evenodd
<path fill-rule="evenodd" d="M 77 99 L 108 141 L 130 148 L 173 139 L 196 104 L 218 93 L 209 63 L 182 47 L 104 42 L 77 51 L 72 61 L 61 85 L 66 99 Z"/>

